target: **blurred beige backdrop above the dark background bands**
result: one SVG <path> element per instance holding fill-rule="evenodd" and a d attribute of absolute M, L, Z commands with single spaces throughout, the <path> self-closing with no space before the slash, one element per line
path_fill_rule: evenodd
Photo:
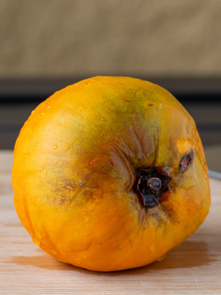
<path fill-rule="evenodd" d="M 218 76 L 220 0 L 1 0 L 0 78 Z"/>

